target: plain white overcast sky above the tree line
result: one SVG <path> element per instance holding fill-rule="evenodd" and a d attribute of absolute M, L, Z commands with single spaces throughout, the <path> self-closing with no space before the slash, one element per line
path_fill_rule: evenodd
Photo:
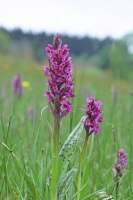
<path fill-rule="evenodd" d="M 133 32 L 133 0 L 0 0 L 0 26 L 120 38 Z"/>

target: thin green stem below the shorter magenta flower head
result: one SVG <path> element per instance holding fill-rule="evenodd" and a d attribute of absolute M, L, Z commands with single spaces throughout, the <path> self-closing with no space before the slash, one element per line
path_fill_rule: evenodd
<path fill-rule="evenodd" d="M 85 155 L 85 151 L 86 151 L 86 146 L 87 146 L 87 142 L 88 142 L 88 137 L 89 134 L 86 133 L 86 137 L 85 137 L 85 141 L 84 141 L 84 145 L 83 145 L 83 149 L 82 152 L 80 154 L 80 158 L 79 158 L 79 169 L 78 169 L 78 194 L 77 194 L 77 200 L 80 199 L 80 189 L 81 189 L 81 172 L 82 172 L 82 165 L 83 165 L 83 159 L 84 159 L 84 155 Z"/>

